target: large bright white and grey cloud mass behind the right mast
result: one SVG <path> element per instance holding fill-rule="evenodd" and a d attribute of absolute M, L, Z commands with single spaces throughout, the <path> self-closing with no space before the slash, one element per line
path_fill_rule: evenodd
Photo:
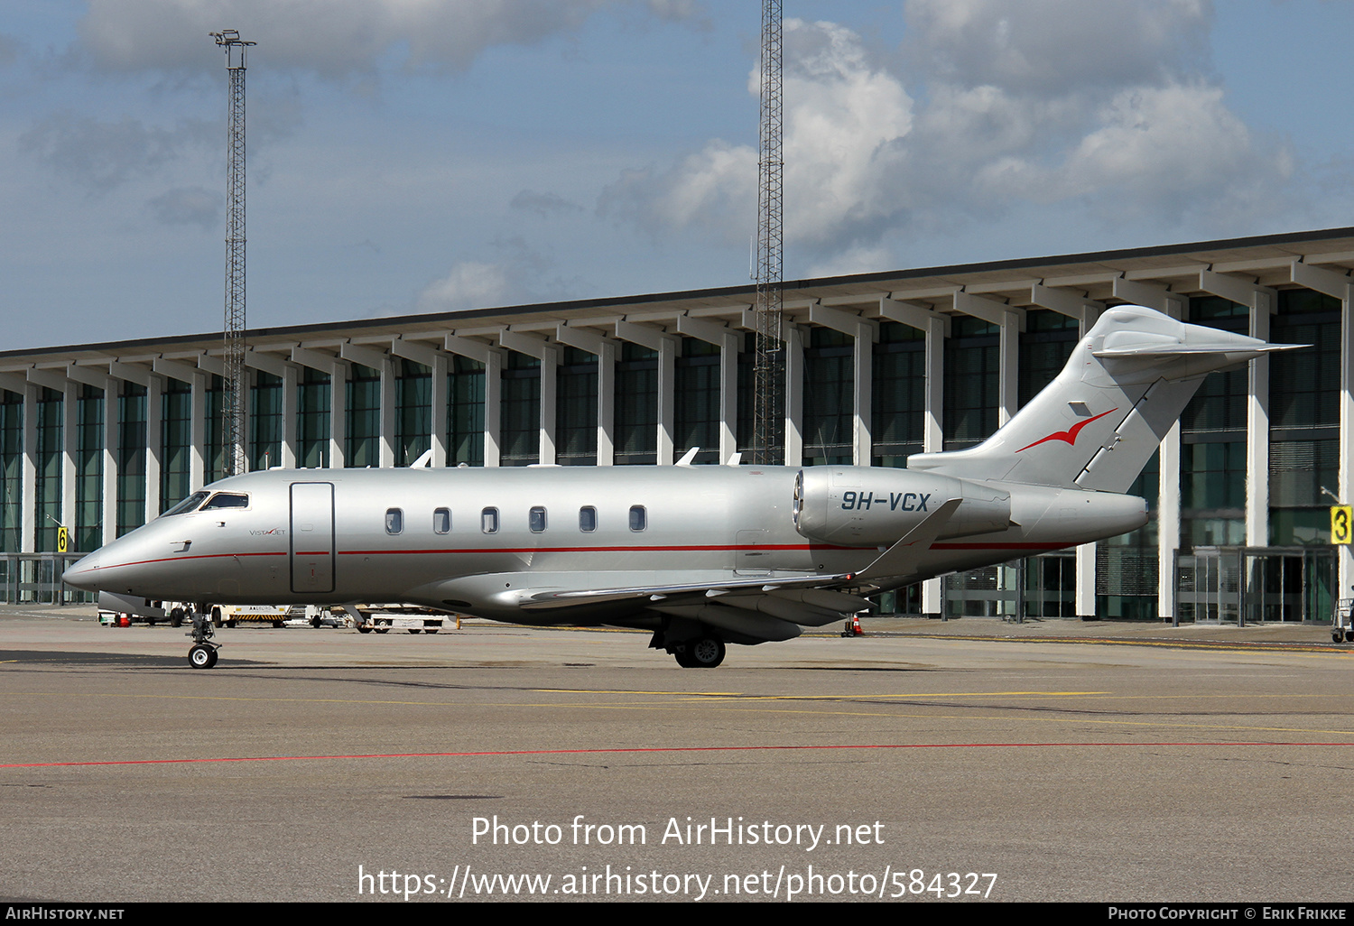
<path fill-rule="evenodd" d="M 1271 215 L 1292 156 L 1209 79 L 1210 15 L 1205 0 L 911 0 L 915 95 L 850 30 L 787 20 L 788 253 L 814 272 L 861 267 L 886 238 L 953 233 L 1021 203 L 1204 234 Z M 756 190 L 757 152 L 715 139 L 626 172 L 598 211 L 655 237 L 699 229 L 738 244 L 756 227 Z"/>

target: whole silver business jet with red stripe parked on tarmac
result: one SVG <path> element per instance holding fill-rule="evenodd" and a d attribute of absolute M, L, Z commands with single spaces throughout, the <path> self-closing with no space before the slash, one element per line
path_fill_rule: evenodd
<path fill-rule="evenodd" d="M 519 624 L 653 631 L 681 666 L 788 640 L 865 596 L 1112 537 L 1124 493 L 1202 378 L 1274 345 L 1141 306 L 1105 311 L 984 443 L 907 468 L 678 466 L 269 470 L 194 493 L 65 574 L 129 601 L 403 601 Z"/>

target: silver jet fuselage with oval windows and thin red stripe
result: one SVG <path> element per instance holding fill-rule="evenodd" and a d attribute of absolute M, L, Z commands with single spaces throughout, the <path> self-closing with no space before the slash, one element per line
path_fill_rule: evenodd
<path fill-rule="evenodd" d="M 815 481 L 819 472 L 831 478 Z M 816 504 L 853 519 L 864 539 L 796 517 L 796 481 L 825 486 L 799 502 L 804 512 Z M 865 467 L 269 470 L 213 483 L 191 510 L 107 544 L 65 578 L 195 602 L 402 601 L 509 620 L 617 620 L 638 605 L 546 616 L 521 604 L 552 592 L 852 573 L 951 497 L 969 508 L 892 585 L 1145 521 L 1133 497 L 964 482 Z M 1009 510 L 997 531 L 994 497 Z"/>

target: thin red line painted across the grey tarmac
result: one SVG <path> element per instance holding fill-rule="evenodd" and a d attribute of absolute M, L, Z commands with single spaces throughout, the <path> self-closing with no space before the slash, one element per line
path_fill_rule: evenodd
<path fill-rule="evenodd" d="M 195 759 L 111 759 L 102 762 L 14 762 L 0 765 L 0 769 L 51 769 L 51 768 L 79 768 L 92 765 L 185 765 L 202 762 L 307 762 L 317 759 L 360 759 L 360 758 L 474 758 L 489 755 L 634 755 L 643 753 L 747 753 L 747 751 L 808 751 L 808 750 L 837 750 L 837 749 L 1066 749 L 1066 747 L 1118 747 L 1132 746 L 1354 746 L 1354 741 L 1347 742 L 1229 742 L 1229 741 L 1193 741 L 1193 742 L 1159 742 L 1144 743 L 1140 741 L 1124 742 L 1055 742 L 1055 743 L 860 743 L 842 746 L 649 746 L 635 749 L 516 749 L 516 750 L 486 750 L 479 753 L 356 753 L 351 755 L 236 755 L 221 758 Z"/>

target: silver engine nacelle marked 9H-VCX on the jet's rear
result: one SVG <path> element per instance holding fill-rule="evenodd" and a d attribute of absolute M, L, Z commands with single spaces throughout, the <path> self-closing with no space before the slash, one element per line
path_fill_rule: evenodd
<path fill-rule="evenodd" d="M 952 498 L 961 504 L 941 537 L 1011 525 L 1010 494 L 980 482 L 909 470 L 814 466 L 795 479 L 795 529 L 819 543 L 890 546 Z"/>

